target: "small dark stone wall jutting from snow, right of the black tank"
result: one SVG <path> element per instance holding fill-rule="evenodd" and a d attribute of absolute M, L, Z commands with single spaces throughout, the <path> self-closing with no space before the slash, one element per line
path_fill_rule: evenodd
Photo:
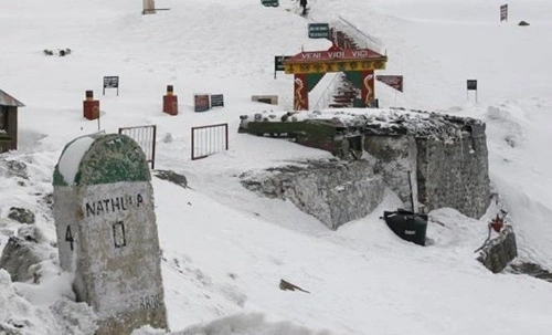
<path fill-rule="evenodd" d="M 516 233 L 510 226 L 506 226 L 497 238 L 485 244 L 479 252 L 478 260 L 492 273 L 498 273 L 516 257 L 518 257 Z"/>

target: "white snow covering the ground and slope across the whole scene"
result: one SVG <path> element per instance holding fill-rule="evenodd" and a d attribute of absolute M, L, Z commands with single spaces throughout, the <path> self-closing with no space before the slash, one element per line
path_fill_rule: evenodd
<path fill-rule="evenodd" d="M 511 0 L 507 23 L 499 23 L 498 0 L 310 0 L 307 20 L 288 0 L 280 8 L 257 0 L 156 2 L 170 10 L 141 15 L 141 1 L 2 3 L 0 88 L 26 106 L 20 149 L 0 159 L 24 161 L 30 180 L 21 187 L 0 177 L 0 248 L 19 228 L 9 209 L 24 207 L 36 213 L 44 248 L 55 251 L 52 214 L 39 199 L 52 191 L 63 146 L 97 130 L 82 117 L 84 92 L 94 90 L 103 129 L 156 124 L 156 168 L 188 178 L 188 189 L 153 179 L 166 304 L 177 334 L 551 332 L 550 283 L 495 275 L 475 260 L 493 209 L 480 220 L 453 209 L 432 212 L 445 227 L 431 226 L 432 243 L 420 248 L 379 219 L 399 205 L 390 192 L 372 214 L 328 231 L 288 201 L 245 190 L 237 177 L 330 155 L 236 133 L 242 114 L 291 108 L 293 77 L 274 80 L 274 56 L 329 48 L 307 38 L 307 23 L 341 17 L 382 42 L 389 56 L 382 73 L 405 76 L 402 94 L 376 83 L 384 107 L 487 123 L 491 182 L 509 210 L 520 259 L 552 269 L 551 1 Z M 531 25 L 518 27 L 520 20 Z M 66 48 L 65 57 L 43 54 Z M 120 76 L 119 96 L 113 90 L 102 96 L 104 75 Z M 467 78 L 478 80 L 477 103 L 473 92 L 466 96 Z M 178 116 L 160 112 L 166 85 L 179 96 Z M 226 106 L 194 113 L 193 94 L 205 92 L 223 93 Z M 277 94 L 280 105 L 251 102 L 258 94 Z M 214 123 L 229 123 L 230 150 L 192 161 L 190 127 Z M 55 253 L 47 269 L 40 285 L 11 283 L 0 271 L 0 324 L 23 322 L 21 334 L 86 333 L 86 322 L 68 327 L 60 318 L 56 300 L 71 299 L 71 279 L 55 274 Z M 280 279 L 310 293 L 280 291 Z M 74 313 L 88 320 L 79 308 Z"/>

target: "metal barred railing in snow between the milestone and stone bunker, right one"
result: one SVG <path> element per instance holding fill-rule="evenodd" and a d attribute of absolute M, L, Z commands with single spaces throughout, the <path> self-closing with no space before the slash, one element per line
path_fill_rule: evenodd
<path fill-rule="evenodd" d="M 192 160 L 229 149 L 229 124 L 192 127 Z"/>

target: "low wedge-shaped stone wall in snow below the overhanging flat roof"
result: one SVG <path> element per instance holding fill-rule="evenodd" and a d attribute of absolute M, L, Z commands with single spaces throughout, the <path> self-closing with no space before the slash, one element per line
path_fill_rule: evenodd
<path fill-rule="evenodd" d="M 247 189 L 289 199 L 333 230 L 369 214 L 382 201 L 385 188 L 367 160 L 309 161 L 242 178 Z"/>

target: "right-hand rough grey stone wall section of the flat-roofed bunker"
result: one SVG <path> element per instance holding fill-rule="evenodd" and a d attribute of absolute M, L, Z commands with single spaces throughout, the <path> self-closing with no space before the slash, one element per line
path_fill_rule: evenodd
<path fill-rule="evenodd" d="M 427 210 L 455 208 L 481 217 L 490 203 L 485 125 L 448 140 L 416 138 L 418 201 Z"/>

